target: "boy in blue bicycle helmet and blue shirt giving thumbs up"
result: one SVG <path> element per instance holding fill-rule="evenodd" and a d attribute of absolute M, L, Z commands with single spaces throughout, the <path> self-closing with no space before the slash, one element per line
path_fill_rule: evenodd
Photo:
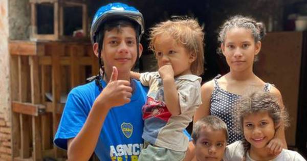
<path fill-rule="evenodd" d="M 70 91 L 54 139 L 69 160 L 88 160 L 94 151 L 100 160 L 138 160 L 147 88 L 129 75 L 143 32 L 143 16 L 133 7 L 113 3 L 97 11 L 91 40 L 100 74 Z"/>

